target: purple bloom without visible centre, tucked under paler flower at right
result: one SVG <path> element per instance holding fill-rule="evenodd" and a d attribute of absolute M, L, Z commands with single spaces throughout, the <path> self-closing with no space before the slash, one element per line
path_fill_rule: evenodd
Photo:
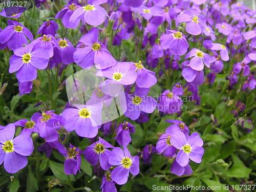
<path fill-rule="evenodd" d="M 201 86 L 201 84 L 204 82 L 204 72 L 196 71 L 190 67 L 184 68 L 182 70 L 182 76 L 193 86 Z"/>

